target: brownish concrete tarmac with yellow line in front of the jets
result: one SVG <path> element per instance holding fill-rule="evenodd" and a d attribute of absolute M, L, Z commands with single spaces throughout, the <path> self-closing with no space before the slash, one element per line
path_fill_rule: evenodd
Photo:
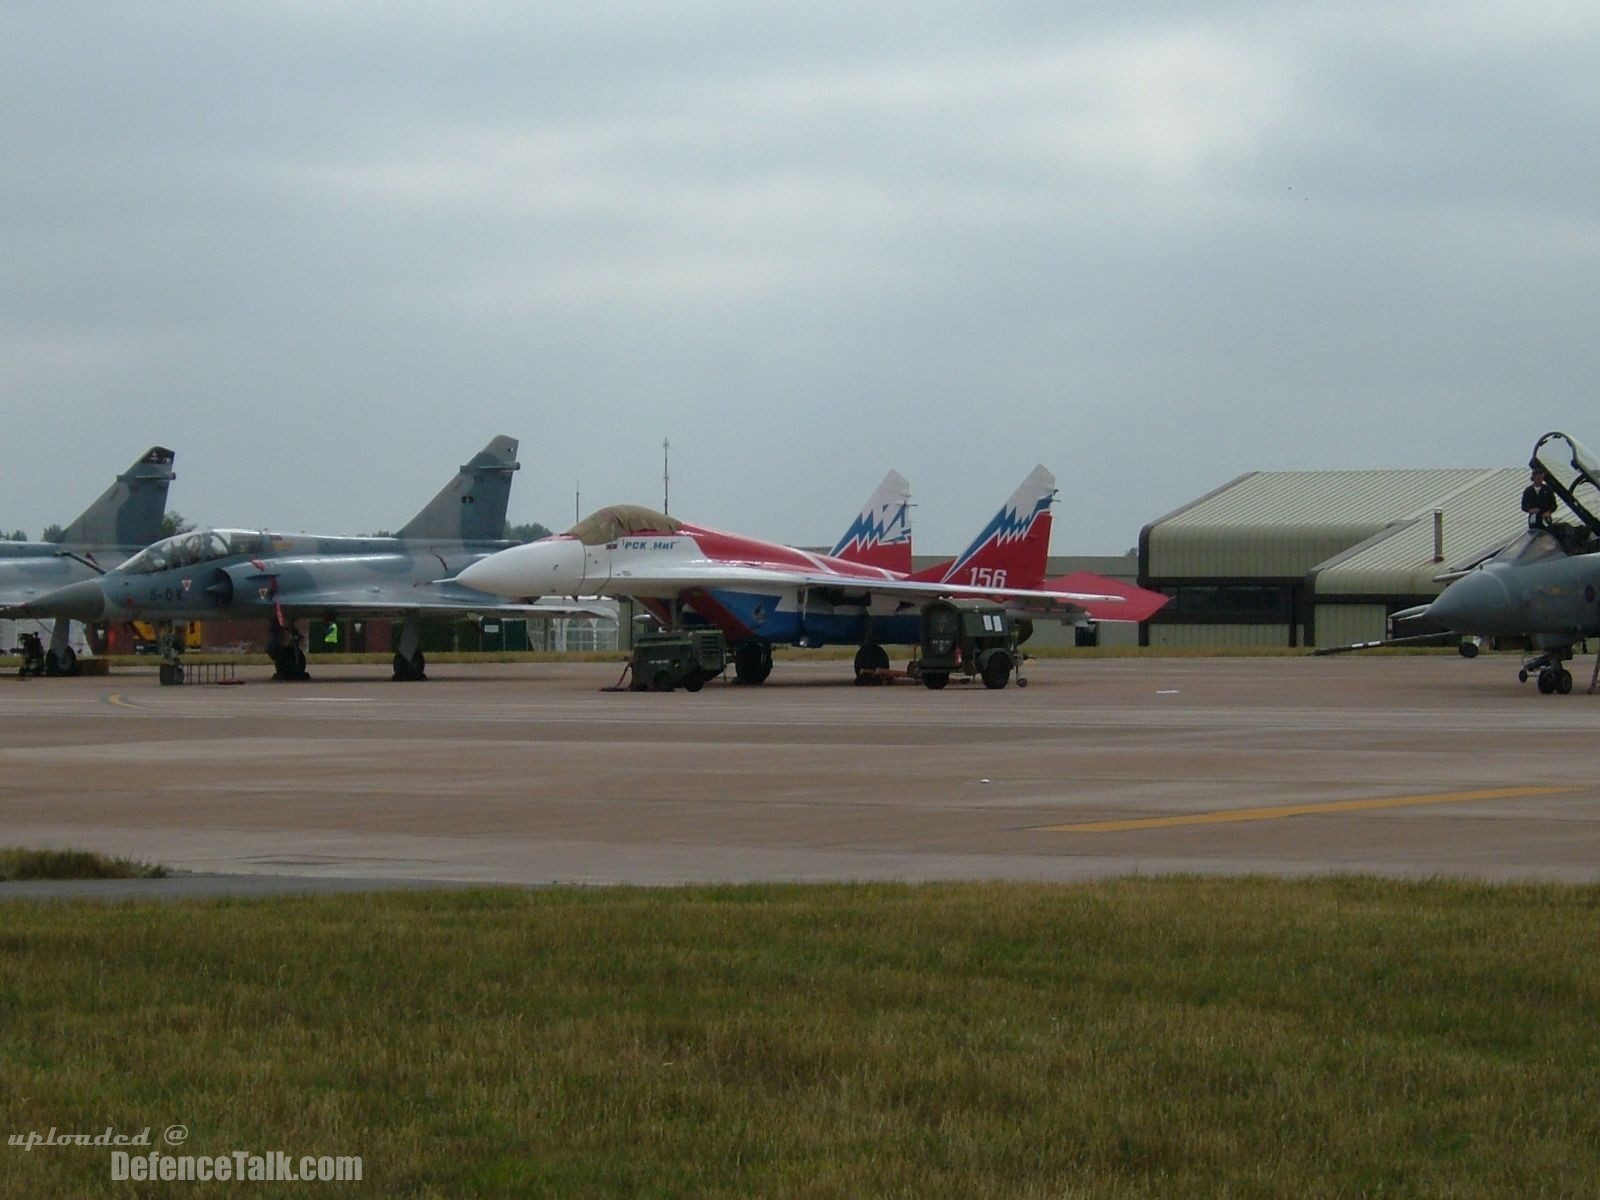
<path fill-rule="evenodd" d="M 787 658 L 699 694 L 602 693 L 610 664 L 6 677 L 0 845 L 373 886 L 1590 882 L 1600 696 L 1576 666 L 1571 696 L 1512 656 L 1054 659 L 1003 691 Z"/>

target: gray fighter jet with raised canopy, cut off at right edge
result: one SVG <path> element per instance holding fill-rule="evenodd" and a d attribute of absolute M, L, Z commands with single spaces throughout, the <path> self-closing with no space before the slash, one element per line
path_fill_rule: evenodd
<path fill-rule="evenodd" d="M 1568 461 L 1558 464 L 1560 458 Z M 1565 694 L 1573 690 L 1565 664 L 1574 646 L 1600 635 L 1600 518 L 1587 499 L 1589 490 L 1600 491 L 1600 459 L 1554 432 L 1534 443 L 1530 466 L 1546 470 L 1550 488 L 1581 523 L 1530 525 L 1509 546 L 1461 571 L 1437 600 L 1394 619 L 1426 621 L 1467 637 L 1462 653 L 1469 658 L 1478 638 L 1520 640 L 1528 656 L 1518 678 L 1526 683 L 1536 675 L 1541 693 Z M 1600 659 L 1589 691 L 1597 682 Z"/>

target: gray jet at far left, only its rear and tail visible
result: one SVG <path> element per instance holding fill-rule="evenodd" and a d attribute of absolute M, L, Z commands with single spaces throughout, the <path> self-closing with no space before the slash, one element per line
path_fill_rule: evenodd
<path fill-rule="evenodd" d="M 58 542 L 0 542 L 0 616 L 30 616 L 29 605 L 67 584 L 93 579 L 162 536 L 173 451 L 150 446 Z M 75 675 L 72 622 L 58 619 L 45 653 L 46 675 Z"/>

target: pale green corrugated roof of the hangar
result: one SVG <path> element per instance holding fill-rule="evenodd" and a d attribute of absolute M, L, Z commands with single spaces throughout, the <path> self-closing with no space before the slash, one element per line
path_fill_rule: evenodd
<path fill-rule="evenodd" d="M 1341 571 L 1403 574 L 1402 590 L 1416 590 L 1413 574 L 1426 571 L 1432 579 L 1443 570 L 1434 563 L 1434 510 L 1445 512 L 1446 558 L 1462 558 L 1522 528 L 1525 482 L 1522 467 L 1251 472 L 1147 525 L 1142 574 L 1288 579 L 1349 558 Z M 1354 549 L 1362 555 L 1350 557 Z M 1394 590 L 1346 587 L 1342 579 L 1338 586 L 1341 592 Z"/>

